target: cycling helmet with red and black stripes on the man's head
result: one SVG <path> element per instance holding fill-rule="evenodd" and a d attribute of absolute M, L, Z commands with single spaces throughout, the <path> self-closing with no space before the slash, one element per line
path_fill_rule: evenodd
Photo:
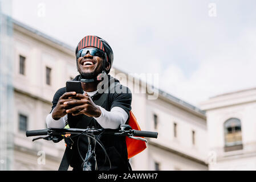
<path fill-rule="evenodd" d="M 113 59 L 114 59 L 113 51 L 109 46 L 109 44 L 104 39 L 101 39 L 99 36 L 94 36 L 94 35 L 85 36 L 82 40 L 80 40 L 80 42 L 78 43 L 78 46 L 76 46 L 75 54 L 77 54 L 78 51 L 80 51 L 80 49 L 83 49 L 85 47 L 96 47 L 104 51 L 107 54 L 107 57 L 104 61 L 107 61 L 108 63 L 110 63 L 110 68 L 112 67 Z M 76 64 L 77 63 L 78 63 L 78 60 L 76 60 Z M 107 74 L 109 73 L 109 71 L 110 69 L 106 71 Z"/>

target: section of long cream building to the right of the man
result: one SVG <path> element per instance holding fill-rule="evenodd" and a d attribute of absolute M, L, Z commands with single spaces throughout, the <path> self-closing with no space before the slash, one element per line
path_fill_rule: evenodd
<path fill-rule="evenodd" d="M 132 158 L 134 170 L 208 170 L 204 111 L 117 69 L 111 74 L 131 89 L 132 112 L 141 130 L 159 133 Z"/>

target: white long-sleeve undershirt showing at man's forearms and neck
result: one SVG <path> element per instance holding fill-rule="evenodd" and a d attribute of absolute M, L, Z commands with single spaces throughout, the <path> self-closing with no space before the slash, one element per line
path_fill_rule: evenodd
<path fill-rule="evenodd" d="M 85 93 L 86 92 L 84 92 L 83 94 Z M 94 94 L 96 93 L 97 90 L 94 92 L 87 92 L 89 96 L 94 96 Z M 111 111 L 107 111 L 101 106 L 99 106 L 99 108 L 101 110 L 101 115 L 97 118 L 94 118 L 104 129 L 117 129 L 120 125 L 123 125 L 128 119 L 128 114 L 121 107 L 113 107 Z M 63 129 L 66 125 L 66 121 L 67 114 L 58 120 L 52 118 L 52 112 L 46 117 L 46 125 L 48 128 Z"/>

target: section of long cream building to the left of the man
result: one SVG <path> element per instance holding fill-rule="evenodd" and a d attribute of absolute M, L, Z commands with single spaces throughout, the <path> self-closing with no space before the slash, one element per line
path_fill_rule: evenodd
<path fill-rule="evenodd" d="M 14 170 L 56 170 L 64 143 L 36 140 L 26 130 L 46 129 L 54 93 L 76 75 L 74 51 L 13 20 Z M 45 159 L 45 160 L 44 160 Z"/>

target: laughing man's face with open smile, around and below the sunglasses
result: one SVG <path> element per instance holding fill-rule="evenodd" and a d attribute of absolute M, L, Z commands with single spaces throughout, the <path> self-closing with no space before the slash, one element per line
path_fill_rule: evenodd
<path fill-rule="evenodd" d="M 92 56 L 90 52 L 87 52 L 84 57 L 78 58 L 78 72 L 80 73 L 82 78 L 94 78 L 102 72 L 103 62 L 104 57 Z"/>

